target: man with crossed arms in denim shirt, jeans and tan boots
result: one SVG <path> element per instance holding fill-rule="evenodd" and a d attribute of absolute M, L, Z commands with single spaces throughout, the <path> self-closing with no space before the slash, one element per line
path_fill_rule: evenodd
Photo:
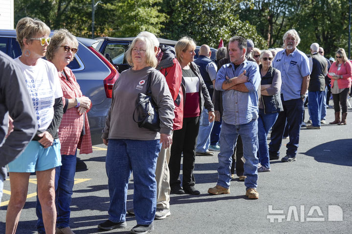
<path fill-rule="evenodd" d="M 220 132 L 219 178 L 210 194 L 229 194 L 231 156 L 240 135 L 243 142 L 246 196 L 258 199 L 258 88 L 260 72 L 257 63 L 245 59 L 247 41 L 233 37 L 229 42 L 231 63 L 223 65 L 216 77 L 215 89 L 222 93 L 222 126 Z"/>

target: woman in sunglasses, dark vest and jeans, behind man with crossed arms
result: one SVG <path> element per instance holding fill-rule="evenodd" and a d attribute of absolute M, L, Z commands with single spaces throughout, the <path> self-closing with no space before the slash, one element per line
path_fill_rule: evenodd
<path fill-rule="evenodd" d="M 264 50 L 260 54 L 261 64 L 261 98 L 259 99 L 258 117 L 258 172 L 270 172 L 269 149 L 267 146 L 267 135 L 274 125 L 279 112 L 283 111 L 280 98 L 281 73 L 271 66 L 272 53 Z"/>

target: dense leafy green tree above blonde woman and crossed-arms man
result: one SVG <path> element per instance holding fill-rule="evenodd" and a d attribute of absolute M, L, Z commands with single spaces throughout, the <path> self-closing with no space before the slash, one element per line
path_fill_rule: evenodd
<path fill-rule="evenodd" d="M 222 38 L 226 43 L 238 35 L 264 45 L 256 28 L 241 21 L 238 0 L 164 0 L 161 11 L 169 15 L 162 36 L 178 40 L 182 36 L 193 38 L 198 45 L 218 47 Z"/>

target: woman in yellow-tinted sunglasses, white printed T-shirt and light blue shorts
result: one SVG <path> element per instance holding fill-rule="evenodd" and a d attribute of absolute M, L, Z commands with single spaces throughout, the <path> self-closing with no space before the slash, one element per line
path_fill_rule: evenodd
<path fill-rule="evenodd" d="M 58 128 L 63 116 L 60 81 L 55 66 L 44 59 L 50 28 L 41 20 L 22 18 L 16 26 L 22 55 L 15 59 L 24 74 L 35 110 L 38 132 L 27 148 L 8 164 L 11 196 L 6 213 L 6 234 L 16 233 L 24 206 L 30 173 L 36 173 L 37 193 L 46 234 L 55 233 L 55 167 L 61 165 Z M 14 94 L 16 95 L 16 94 Z M 28 230 L 29 231 L 29 230 Z"/>

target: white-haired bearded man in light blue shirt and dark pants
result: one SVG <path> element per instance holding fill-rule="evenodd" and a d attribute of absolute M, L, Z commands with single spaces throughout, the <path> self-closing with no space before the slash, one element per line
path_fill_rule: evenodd
<path fill-rule="evenodd" d="M 296 161 L 310 71 L 308 57 L 296 48 L 301 41 L 297 31 L 288 30 L 283 41 L 285 49 L 276 54 L 272 66 L 281 72 L 281 100 L 284 111 L 280 112 L 272 127 L 269 156 L 270 159 L 280 158 L 282 138 L 288 124 L 289 142 L 286 144 L 286 156 L 281 161 L 292 162 Z"/>

